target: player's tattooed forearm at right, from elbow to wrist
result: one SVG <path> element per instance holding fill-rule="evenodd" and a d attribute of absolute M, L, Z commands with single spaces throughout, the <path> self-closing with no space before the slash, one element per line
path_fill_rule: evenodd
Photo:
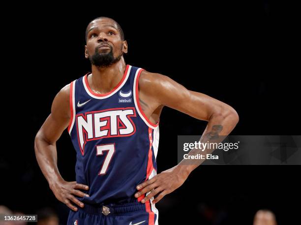
<path fill-rule="evenodd" d="M 208 121 L 208 125 L 203 132 L 200 142 L 201 143 L 220 143 L 226 136 L 235 128 L 239 121 L 238 114 L 234 110 L 227 110 L 224 113 L 212 114 L 211 118 Z M 189 152 L 188 155 L 197 155 L 197 154 L 211 154 L 214 149 L 206 148 L 203 151 L 200 149 L 193 149 Z M 196 167 L 202 164 L 206 159 L 198 160 L 182 160 L 178 165 L 177 169 L 184 176 L 188 176 L 191 171 Z"/>

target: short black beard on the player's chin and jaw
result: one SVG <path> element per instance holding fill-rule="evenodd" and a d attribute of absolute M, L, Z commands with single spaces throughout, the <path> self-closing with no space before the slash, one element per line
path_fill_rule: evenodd
<path fill-rule="evenodd" d="M 121 46 L 121 48 L 122 48 L 122 46 Z M 123 52 L 121 51 L 121 54 L 117 58 L 114 58 L 112 46 L 110 46 L 110 52 L 108 52 L 108 53 L 99 53 L 99 49 L 98 49 L 98 47 L 96 47 L 94 55 L 89 56 L 89 60 L 90 60 L 91 64 L 93 64 L 97 67 L 99 67 L 99 66 L 109 67 L 112 64 L 115 64 L 118 61 L 120 61 L 122 55 L 123 55 Z"/>

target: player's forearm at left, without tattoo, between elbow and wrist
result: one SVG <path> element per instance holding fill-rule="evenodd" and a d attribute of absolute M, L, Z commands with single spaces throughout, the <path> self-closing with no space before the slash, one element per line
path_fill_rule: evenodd
<path fill-rule="evenodd" d="M 37 134 L 34 140 L 35 157 L 49 186 L 63 180 L 57 165 L 57 147 L 48 143 L 42 135 Z"/>

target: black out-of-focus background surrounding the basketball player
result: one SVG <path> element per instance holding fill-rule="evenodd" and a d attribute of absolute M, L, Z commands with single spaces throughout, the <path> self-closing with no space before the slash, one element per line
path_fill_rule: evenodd
<path fill-rule="evenodd" d="M 15 12 L 5 30 L 16 49 L 10 49 L 10 72 L 2 83 L 11 88 L 4 97 L 9 112 L 3 117 L 0 205 L 26 214 L 52 207 L 65 223 L 68 208 L 49 189 L 33 142 L 55 95 L 90 71 L 85 29 L 98 16 L 120 23 L 129 46 L 127 64 L 168 75 L 233 106 L 240 122 L 232 134 L 301 135 L 298 5 L 268 0 L 139 4 L 18 5 L 27 8 Z M 177 135 L 199 135 L 205 127 L 204 121 L 164 108 L 158 172 L 177 163 Z M 57 148 L 60 173 L 73 181 L 75 151 L 67 131 Z M 298 179 L 297 166 L 200 166 L 156 204 L 159 223 L 252 224 L 262 208 L 272 210 L 279 225 L 300 223 Z"/>

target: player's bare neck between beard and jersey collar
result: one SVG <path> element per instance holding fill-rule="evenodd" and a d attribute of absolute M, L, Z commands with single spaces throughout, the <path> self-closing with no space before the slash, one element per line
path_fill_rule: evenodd
<path fill-rule="evenodd" d="M 92 65 L 92 74 L 88 76 L 90 88 L 98 94 L 106 94 L 115 88 L 125 71 L 126 64 L 123 57 L 109 67 Z"/>

